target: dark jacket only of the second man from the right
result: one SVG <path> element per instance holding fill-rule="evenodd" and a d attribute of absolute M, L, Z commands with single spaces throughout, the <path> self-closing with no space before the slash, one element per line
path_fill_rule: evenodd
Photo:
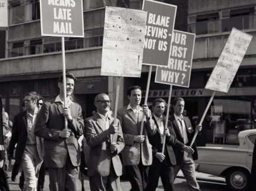
<path fill-rule="evenodd" d="M 152 119 L 154 120 L 154 124 L 156 124 L 157 132 L 154 135 L 149 135 L 148 140 L 152 145 L 152 151 L 153 151 L 152 166 L 157 166 L 157 164 L 160 164 L 160 161 L 154 156 L 157 152 L 162 153 L 163 144 L 161 143 L 161 135 L 160 135 L 160 130 L 159 130 L 159 126 L 157 124 L 156 118 L 152 116 Z M 166 122 L 166 117 L 163 116 L 164 126 L 165 126 L 165 122 Z M 173 151 L 173 148 L 176 148 L 176 150 L 182 150 L 182 147 L 184 146 L 184 144 L 176 139 L 175 132 L 173 131 L 173 127 L 170 121 L 168 121 L 167 128 L 169 129 L 170 137 L 166 137 L 164 154 L 166 157 L 169 157 L 170 164 L 176 165 L 176 158 L 175 158 L 175 153 Z"/>

